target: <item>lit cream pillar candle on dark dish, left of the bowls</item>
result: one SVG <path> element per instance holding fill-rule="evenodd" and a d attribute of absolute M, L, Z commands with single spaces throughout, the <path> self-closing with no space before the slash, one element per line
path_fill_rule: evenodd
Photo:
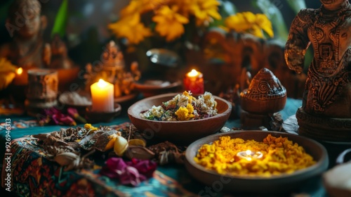
<path fill-rule="evenodd" d="M 114 111 L 113 84 L 99 80 L 91 85 L 91 110 L 95 112 Z"/>

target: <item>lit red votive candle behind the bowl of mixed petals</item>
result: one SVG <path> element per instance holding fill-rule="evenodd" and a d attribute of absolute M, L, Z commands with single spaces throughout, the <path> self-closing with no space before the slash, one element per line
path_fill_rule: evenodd
<path fill-rule="evenodd" d="M 184 87 L 186 91 L 191 91 L 193 94 L 204 94 L 204 77 L 202 73 L 195 69 L 187 72 L 184 78 Z"/>

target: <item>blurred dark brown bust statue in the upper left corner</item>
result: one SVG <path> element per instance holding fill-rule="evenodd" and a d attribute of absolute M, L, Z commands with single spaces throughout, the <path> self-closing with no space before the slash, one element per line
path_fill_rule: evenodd
<path fill-rule="evenodd" d="M 13 65 L 43 68 L 50 63 L 51 49 L 43 40 L 47 20 L 38 0 L 15 0 L 8 9 L 6 29 L 12 41 L 0 47 L 0 57 Z M 6 76 L 0 76 L 6 77 Z"/>

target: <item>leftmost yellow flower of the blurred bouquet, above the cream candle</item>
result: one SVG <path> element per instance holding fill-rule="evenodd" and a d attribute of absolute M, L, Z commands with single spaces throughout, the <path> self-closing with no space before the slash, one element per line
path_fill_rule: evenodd
<path fill-rule="evenodd" d="M 130 44 L 138 44 L 145 37 L 150 37 L 152 32 L 149 28 L 140 23 L 140 15 L 135 13 L 126 18 L 122 18 L 116 23 L 109 25 L 110 29 L 117 37 L 125 37 Z"/>

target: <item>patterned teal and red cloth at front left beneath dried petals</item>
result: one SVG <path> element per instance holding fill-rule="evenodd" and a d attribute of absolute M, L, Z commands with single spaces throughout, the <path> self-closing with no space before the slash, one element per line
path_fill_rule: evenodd
<path fill-rule="evenodd" d="M 11 154 L 11 191 L 18 196 L 196 196 L 158 170 L 137 187 L 102 176 L 101 164 L 65 172 L 38 146 L 37 139 L 29 136 L 11 141 Z M 4 188 L 5 167 L 1 173 Z"/>

